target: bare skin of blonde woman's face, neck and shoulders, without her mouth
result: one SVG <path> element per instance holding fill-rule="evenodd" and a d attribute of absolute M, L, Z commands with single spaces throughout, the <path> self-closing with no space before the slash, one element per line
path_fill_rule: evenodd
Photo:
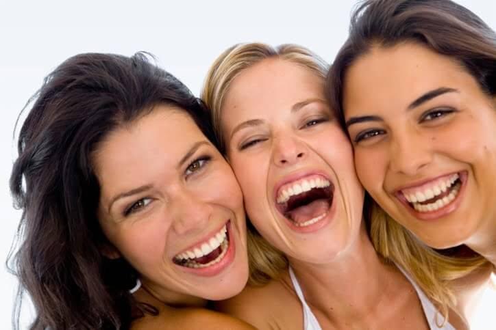
<path fill-rule="evenodd" d="M 427 329 L 408 280 L 373 250 L 351 146 L 324 99 L 321 77 L 282 59 L 264 59 L 230 85 L 221 128 L 249 218 L 288 256 L 323 329 Z M 335 209 L 308 232 L 292 230 L 274 191 L 315 171 L 333 182 Z M 245 288 L 221 309 L 258 329 L 303 324 L 287 272 L 262 288 Z"/>

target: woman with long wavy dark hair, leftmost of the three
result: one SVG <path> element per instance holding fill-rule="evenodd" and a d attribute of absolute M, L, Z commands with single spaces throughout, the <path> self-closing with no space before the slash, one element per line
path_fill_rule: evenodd
<path fill-rule="evenodd" d="M 145 55 L 51 72 L 10 185 L 31 329 L 249 329 L 201 308 L 247 281 L 240 189 L 201 102 Z"/>

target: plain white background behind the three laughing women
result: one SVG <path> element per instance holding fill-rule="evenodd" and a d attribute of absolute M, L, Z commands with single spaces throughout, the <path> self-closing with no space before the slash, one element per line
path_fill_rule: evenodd
<path fill-rule="evenodd" d="M 0 262 L 7 256 L 20 217 L 8 189 L 16 156 L 14 123 L 43 77 L 64 59 L 84 52 L 149 51 L 160 66 L 199 94 L 212 61 L 238 42 L 302 44 L 332 61 L 347 36 L 354 3 L 0 0 Z M 495 1 L 458 3 L 496 29 Z M 15 287 L 16 279 L 2 264 L 0 329 L 11 328 Z M 25 309 L 23 329 L 29 320 Z"/>

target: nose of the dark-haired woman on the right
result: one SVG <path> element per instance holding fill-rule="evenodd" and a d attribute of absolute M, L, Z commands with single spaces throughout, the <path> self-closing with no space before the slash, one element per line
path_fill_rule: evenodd
<path fill-rule="evenodd" d="M 432 143 L 418 133 L 397 135 L 390 144 L 390 168 L 414 176 L 432 161 Z"/>

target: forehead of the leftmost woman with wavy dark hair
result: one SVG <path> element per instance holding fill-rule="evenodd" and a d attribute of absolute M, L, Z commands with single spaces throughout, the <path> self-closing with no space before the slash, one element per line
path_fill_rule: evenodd
<path fill-rule="evenodd" d="M 105 188 L 133 176 L 175 169 L 191 144 L 201 139 L 203 133 L 186 112 L 158 106 L 106 137 L 93 157 L 95 172 Z"/>

